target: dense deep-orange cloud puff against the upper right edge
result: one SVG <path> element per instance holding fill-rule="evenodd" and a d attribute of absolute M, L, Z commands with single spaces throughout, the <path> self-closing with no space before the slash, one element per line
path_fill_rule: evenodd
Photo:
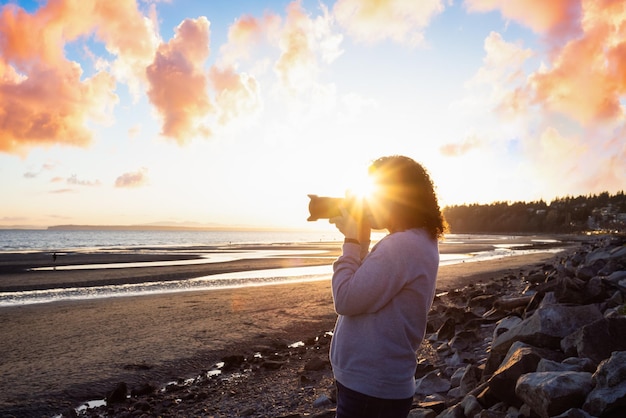
<path fill-rule="evenodd" d="M 531 78 L 533 99 L 584 125 L 623 119 L 626 93 L 626 7 L 586 1 L 582 36 L 569 40 Z M 584 65 L 581 65 L 584 63 Z"/>

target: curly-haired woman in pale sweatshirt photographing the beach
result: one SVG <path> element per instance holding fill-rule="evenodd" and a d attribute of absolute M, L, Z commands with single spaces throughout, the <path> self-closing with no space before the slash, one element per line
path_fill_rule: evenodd
<path fill-rule="evenodd" d="M 430 176 L 404 156 L 369 169 L 374 191 L 362 210 L 330 219 L 345 236 L 333 264 L 338 314 L 330 349 L 337 418 L 406 417 L 415 391 L 445 224 Z M 371 229 L 389 234 L 368 252 Z"/>

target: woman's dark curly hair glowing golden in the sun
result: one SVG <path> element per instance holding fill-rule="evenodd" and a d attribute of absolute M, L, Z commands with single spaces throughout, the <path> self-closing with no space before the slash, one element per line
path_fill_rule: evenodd
<path fill-rule="evenodd" d="M 447 230 L 428 172 L 409 157 L 381 157 L 369 167 L 381 194 L 394 204 L 394 223 L 401 229 L 424 228 L 433 239 Z"/>

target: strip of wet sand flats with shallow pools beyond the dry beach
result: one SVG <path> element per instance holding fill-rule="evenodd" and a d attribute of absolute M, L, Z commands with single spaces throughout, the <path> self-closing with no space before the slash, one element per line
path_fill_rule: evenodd
<path fill-rule="evenodd" d="M 558 242 L 532 242 L 530 237 L 481 241 L 471 244 L 445 241 L 440 243 L 441 265 L 447 264 L 443 259 L 451 255 L 467 256 L 464 260 L 456 260 L 457 263 L 464 264 L 466 261 L 477 262 L 480 254 L 489 254 L 498 248 L 505 252 L 511 249 L 517 249 L 521 253 L 549 252 L 563 250 L 572 245 L 572 237 L 568 241 Z M 278 253 L 280 255 L 275 255 Z M 231 259 L 226 259 L 225 254 Z M 341 243 L 338 242 L 176 247 L 154 253 L 147 253 L 145 249 L 140 252 L 124 249 L 76 251 L 58 256 L 55 262 L 49 252 L 0 253 L 0 293 L 139 285 L 184 281 L 226 273 L 325 266 L 331 265 L 340 254 Z M 506 257 L 511 256 L 515 255 L 506 254 Z M 107 266 L 116 268 L 106 268 Z"/>

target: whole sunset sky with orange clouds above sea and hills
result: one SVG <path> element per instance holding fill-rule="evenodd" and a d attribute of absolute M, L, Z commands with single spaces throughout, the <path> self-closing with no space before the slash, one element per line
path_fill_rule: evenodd
<path fill-rule="evenodd" d="M 0 0 L 0 227 L 310 228 L 396 154 L 441 207 L 615 193 L 625 99 L 626 1 Z"/>

